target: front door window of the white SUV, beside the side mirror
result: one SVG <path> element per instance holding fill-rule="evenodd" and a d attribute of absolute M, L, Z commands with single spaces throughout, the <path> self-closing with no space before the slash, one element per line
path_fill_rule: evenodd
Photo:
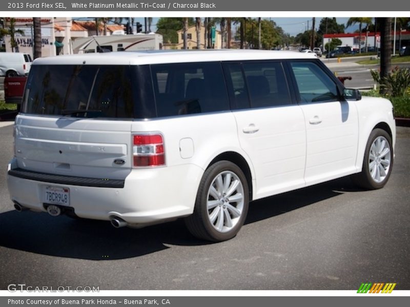
<path fill-rule="evenodd" d="M 338 100 L 336 83 L 313 62 L 291 62 L 301 102 Z"/>

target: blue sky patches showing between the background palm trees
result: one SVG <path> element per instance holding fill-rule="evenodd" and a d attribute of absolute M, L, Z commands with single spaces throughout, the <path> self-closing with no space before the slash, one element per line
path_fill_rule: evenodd
<path fill-rule="evenodd" d="M 271 19 L 274 20 L 278 26 L 282 27 L 285 33 L 289 33 L 291 36 L 295 36 L 298 33 L 304 32 L 306 30 L 306 27 L 308 27 L 308 20 L 309 28 L 312 29 L 312 17 L 272 17 Z M 316 28 L 319 27 L 321 19 L 322 17 L 316 17 Z M 349 17 L 336 17 L 338 24 L 346 25 L 348 19 Z M 136 17 L 135 20 L 142 23 L 142 30 L 144 31 L 144 18 Z M 157 23 L 157 20 L 158 17 L 153 17 L 153 25 L 151 26 L 152 31 L 155 31 L 156 29 L 155 25 Z M 349 27 L 345 30 L 345 32 L 353 32 L 358 29 L 358 27 L 358 25 Z"/>

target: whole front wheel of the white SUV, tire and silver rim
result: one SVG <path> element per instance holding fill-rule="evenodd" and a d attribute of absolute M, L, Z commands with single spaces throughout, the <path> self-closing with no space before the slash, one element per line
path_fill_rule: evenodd
<path fill-rule="evenodd" d="M 392 167 L 392 138 L 385 130 L 374 129 L 367 141 L 362 171 L 353 180 L 363 188 L 380 189 L 387 183 Z"/>

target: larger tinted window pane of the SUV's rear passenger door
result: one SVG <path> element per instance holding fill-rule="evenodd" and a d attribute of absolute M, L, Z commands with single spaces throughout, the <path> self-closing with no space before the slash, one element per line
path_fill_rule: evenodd
<path fill-rule="evenodd" d="M 288 83 L 280 62 L 245 62 L 242 65 L 251 107 L 291 104 Z"/>

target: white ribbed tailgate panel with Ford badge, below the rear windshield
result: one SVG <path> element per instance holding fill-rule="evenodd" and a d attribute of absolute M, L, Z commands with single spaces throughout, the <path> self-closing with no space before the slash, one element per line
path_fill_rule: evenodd
<path fill-rule="evenodd" d="M 131 123 L 18 115 L 17 166 L 42 173 L 124 180 L 131 171 Z"/>

